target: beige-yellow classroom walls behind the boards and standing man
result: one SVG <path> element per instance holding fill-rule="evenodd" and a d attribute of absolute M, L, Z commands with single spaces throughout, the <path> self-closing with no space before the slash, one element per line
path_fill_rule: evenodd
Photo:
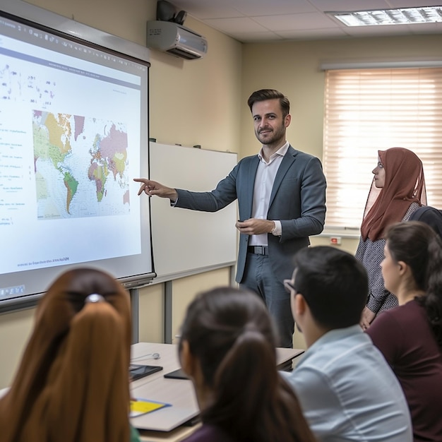
<path fill-rule="evenodd" d="M 155 19 L 156 0 L 32 0 L 68 18 L 145 44 L 145 21 Z M 213 150 L 232 150 L 240 157 L 259 145 L 246 100 L 253 90 L 276 88 L 292 102 L 287 138 L 296 148 L 322 156 L 323 83 L 319 66 L 331 61 L 402 61 L 441 59 L 442 35 L 360 38 L 315 42 L 240 44 L 189 17 L 186 26 L 205 35 L 208 54 L 184 61 L 151 52 L 150 136 L 162 143 L 201 144 Z M 312 244 L 329 244 L 314 237 Z M 357 240 L 343 239 L 342 247 L 356 249 Z M 229 283 L 227 270 L 214 270 L 174 282 L 173 333 L 187 303 L 202 289 Z M 163 286 L 140 291 L 140 340 L 162 342 Z M 8 386 L 30 329 L 34 310 L 0 315 L 0 388 Z M 295 346 L 303 346 L 295 333 Z"/>

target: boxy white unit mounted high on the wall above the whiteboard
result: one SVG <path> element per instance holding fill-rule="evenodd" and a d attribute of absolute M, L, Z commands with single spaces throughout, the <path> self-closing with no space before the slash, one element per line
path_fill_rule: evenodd
<path fill-rule="evenodd" d="M 186 60 L 201 59 L 207 54 L 203 35 L 169 21 L 148 21 L 147 46 Z"/>

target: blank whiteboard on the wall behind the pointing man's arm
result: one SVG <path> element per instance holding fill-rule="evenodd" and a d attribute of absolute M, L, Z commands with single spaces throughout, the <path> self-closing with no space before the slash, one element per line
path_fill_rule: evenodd
<path fill-rule="evenodd" d="M 236 164 L 236 153 L 150 143 L 150 179 L 169 187 L 211 191 Z M 237 203 L 215 213 L 173 208 L 157 196 L 150 205 L 157 280 L 236 263 Z"/>

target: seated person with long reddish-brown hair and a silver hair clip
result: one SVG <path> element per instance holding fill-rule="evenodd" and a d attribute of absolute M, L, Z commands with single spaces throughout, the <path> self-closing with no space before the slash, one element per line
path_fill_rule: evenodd
<path fill-rule="evenodd" d="M 129 442 L 129 293 L 92 268 L 68 270 L 40 300 L 8 393 L 1 442 Z"/>

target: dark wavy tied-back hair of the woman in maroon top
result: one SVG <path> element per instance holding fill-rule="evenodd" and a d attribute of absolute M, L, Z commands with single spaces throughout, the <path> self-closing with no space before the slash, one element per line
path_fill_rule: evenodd
<path fill-rule="evenodd" d="M 398 222 L 386 231 L 388 250 L 394 261 L 410 266 L 416 288 L 425 295 L 417 301 L 426 310 L 431 328 L 442 348 L 442 241 L 421 221 Z"/>

